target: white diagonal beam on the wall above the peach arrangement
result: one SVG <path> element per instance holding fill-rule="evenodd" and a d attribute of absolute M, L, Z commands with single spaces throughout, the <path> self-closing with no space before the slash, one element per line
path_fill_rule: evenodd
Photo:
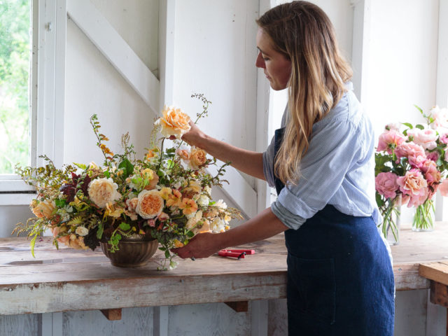
<path fill-rule="evenodd" d="M 157 114 L 159 80 L 99 10 L 90 0 L 69 0 L 67 14 Z"/>

